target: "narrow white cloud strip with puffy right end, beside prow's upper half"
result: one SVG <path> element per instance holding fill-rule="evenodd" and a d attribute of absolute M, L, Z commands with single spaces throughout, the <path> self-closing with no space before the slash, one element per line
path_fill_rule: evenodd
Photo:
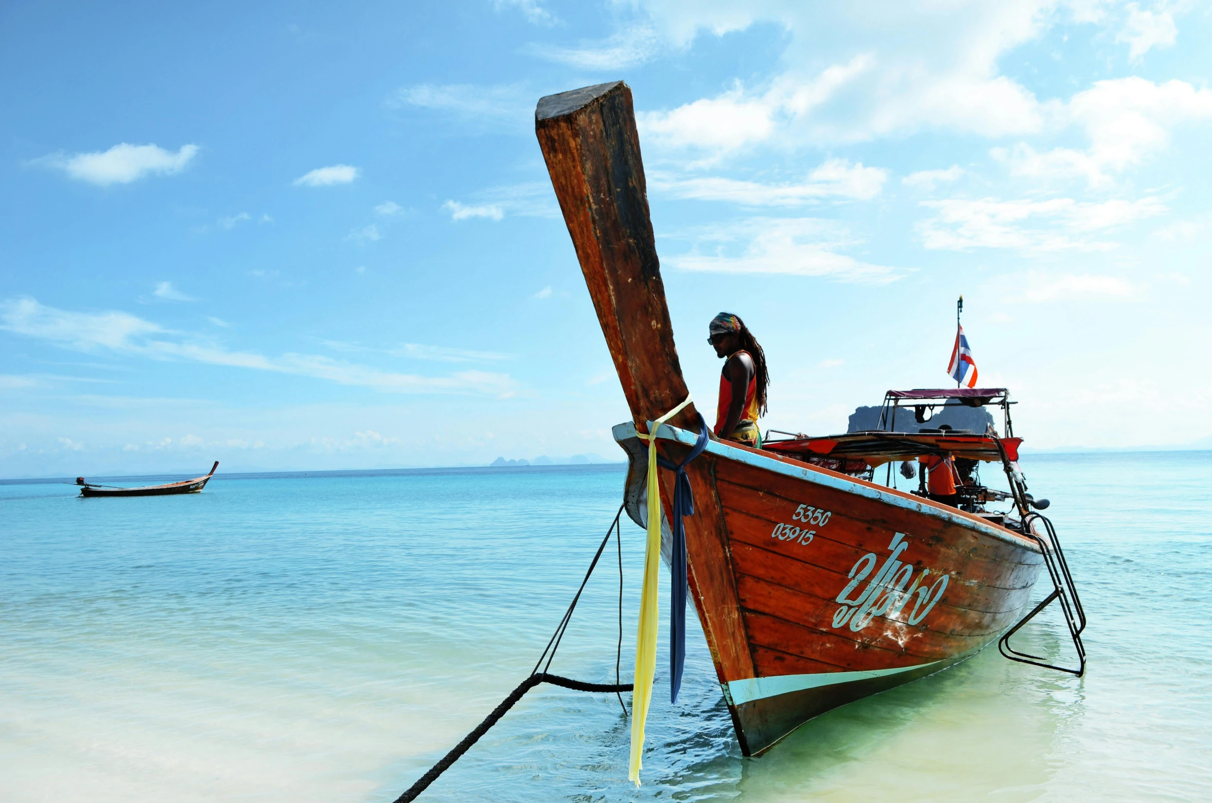
<path fill-rule="evenodd" d="M 851 165 L 845 159 L 829 159 L 797 184 L 761 184 L 734 178 L 675 178 L 654 172 L 648 188 L 674 198 L 722 200 L 745 206 L 802 206 L 825 198 L 869 200 L 880 194 L 887 171 Z"/>

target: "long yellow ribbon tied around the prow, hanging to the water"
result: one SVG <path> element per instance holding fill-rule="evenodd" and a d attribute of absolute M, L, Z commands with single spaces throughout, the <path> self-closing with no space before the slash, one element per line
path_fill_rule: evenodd
<path fill-rule="evenodd" d="M 640 592 L 640 623 L 635 633 L 635 690 L 631 693 L 631 761 L 628 780 L 640 785 L 644 765 L 644 724 L 652 702 L 652 679 L 657 671 L 657 570 L 661 568 L 661 483 L 657 477 L 657 429 L 691 403 L 691 397 L 652 422 L 648 434 L 648 537 L 644 551 L 644 586 Z"/>

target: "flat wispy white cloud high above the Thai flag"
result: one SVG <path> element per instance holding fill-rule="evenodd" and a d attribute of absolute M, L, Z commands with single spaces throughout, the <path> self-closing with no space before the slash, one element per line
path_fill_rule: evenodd
<path fill-rule="evenodd" d="M 1028 251 L 1107 251 L 1113 241 L 1088 235 L 1105 233 L 1166 211 L 1160 198 L 1081 203 L 1071 198 L 999 200 L 996 198 L 922 201 L 936 211 L 917 229 L 927 249 L 973 247 Z"/>

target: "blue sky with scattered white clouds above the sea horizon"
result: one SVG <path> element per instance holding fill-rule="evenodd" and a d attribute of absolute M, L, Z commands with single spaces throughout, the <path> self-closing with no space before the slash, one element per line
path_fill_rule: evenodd
<path fill-rule="evenodd" d="M 533 135 L 634 92 L 674 331 L 765 426 L 981 385 L 1037 448 L 1212 434 L 1193 2 L 8 2 L 0 475 L 484 463 L 628 417 Z"/>

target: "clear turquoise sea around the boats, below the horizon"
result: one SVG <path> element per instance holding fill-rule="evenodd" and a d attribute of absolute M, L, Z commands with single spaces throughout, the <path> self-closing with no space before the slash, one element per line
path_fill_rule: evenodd
<path fill-rule="evenodd" d="M 1086 677 L 993 648 L 744 759 L 696 622 L 676 706 L 658 656 L 640 788 L 618 700 L 539 687 L 419 799 L 1212 799 L 1212 452 L 1023 467 Z M 0 801 L 393 801 L 531 671 L 622 490 L 621 466 L 0 483 Z M 553 671 L 613 680 L 618 582 L 612 543 Z M 1057 619 L 1025 643 L 1069 657 Z"/>

